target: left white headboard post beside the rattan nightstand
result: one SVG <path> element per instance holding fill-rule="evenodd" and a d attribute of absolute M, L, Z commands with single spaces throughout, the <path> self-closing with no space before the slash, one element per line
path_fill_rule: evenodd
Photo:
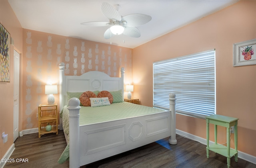
<path fill-rule="evenodd" d="M 64 107 L 64 100 L 63 100 L 63 78 L 64 78 L 64 69 L 65 69 L 65 63 L 60 63 L 59 64 L 59 68 L 60 68 L 60 76 L 59 76 L 59 78 L 60 78 L 60 80 L 59 80 L 59 88 L 60 88 L 60 92 L 59 92 L 59 94 L 60 94 L 60 107 L 59 107 L 59 109 L 60 109 L 60 112 L 61 112 L 61 110 L 63 109 L 63 107 Z M 62 127 L 62 118 L 60 117 L 60 119 L 59 119 L 59 121 L 60 121 L 60 130 L 63 130 L 63 127 Z"/>

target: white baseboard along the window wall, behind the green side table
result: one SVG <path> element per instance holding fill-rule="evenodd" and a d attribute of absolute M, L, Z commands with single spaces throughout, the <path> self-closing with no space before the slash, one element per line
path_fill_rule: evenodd
<path fill-rule="evenodd" d="M 187 133 L 187 132 L 184 132 L 184 131 L 181 131 L 179 129 L 176 129 L 176 134 L 182 136 L 182 137 L 185 137 L 185 138 L 188 138 L 188 139 L 191 139 L 193 141 L 197 141 L 199 143 L 202 143 L 203 145 L 206 145 L 206 139 L 204 138 L 201 138 L 201 137 L 198 137 L 196 135 L 193 135 L 193 134 L 190 134 L 190 133 Z M 178 142 L 179 143 L 179 142 Z M 209 141 L 209 144 L 213 144 L 214 142 L 213 141 Z M 206 155 L 206 154 L 205 154 Z M 244 153 L 244 152 L 241 152 L 238 150 L 238 158 L 241 158 L 243 160 L 246 160 L 248 162 L 251 162 L 253 164 L 256 164 L 256 156 L 252 156 L 250 154 L 247 154 L 247 153 Z"/>

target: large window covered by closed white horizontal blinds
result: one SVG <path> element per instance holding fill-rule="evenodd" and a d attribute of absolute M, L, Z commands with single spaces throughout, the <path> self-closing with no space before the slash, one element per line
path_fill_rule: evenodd
<path fill-rule="evenodd" d="M 169 109 L 176 94 L 176 112 L 204 118 L 215 114 L 215 50 L 153 63 L 153 106 Z"/>

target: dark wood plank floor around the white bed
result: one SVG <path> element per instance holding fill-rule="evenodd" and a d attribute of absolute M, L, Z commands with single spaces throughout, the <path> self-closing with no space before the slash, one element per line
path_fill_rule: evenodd
<path fill-rule="evenodd" d="M 168 138 L 151 143 L 110 158 L 82 166 L 81 168 L 226 168 L 226 158 L 210 151 L 206 158 L 206 146 L 176 136 L 177 145 L 169 145 Z M 7 163 L 4 168 L 68 168 L 69 162 L 58 164 L 58 158 L 66 147 L 63 131 L 58 135 L 38 133 L 24 135 L 15 141 L 10 158 L 24 158 L 28 162 Z M 256 168 L 255 164 L 231 158 L 231 168 Z"/>

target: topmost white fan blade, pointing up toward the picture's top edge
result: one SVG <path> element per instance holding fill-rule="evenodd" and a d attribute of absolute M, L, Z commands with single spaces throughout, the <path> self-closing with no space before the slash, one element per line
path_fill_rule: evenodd
<path fill-rule="evenodd" d="M 122 19 L 121 15 L 117 12 L 117 10 L 106 2 L 102 3 L 101 11 L 109 20 L 121 21 Z"/>

